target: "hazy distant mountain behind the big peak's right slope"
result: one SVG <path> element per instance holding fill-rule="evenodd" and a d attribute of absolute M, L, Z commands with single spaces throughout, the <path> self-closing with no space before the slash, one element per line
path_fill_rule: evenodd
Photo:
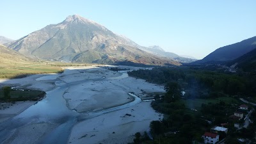
<path fill-rule="evenodd" d="M 178 54 L 175 54 L 173 52 L 166 52 L 158 45 L 150 46 L 150 47 L 139 47 L 143 51 L 150 52 L 152 54 L 156 54 L 158 56 L 164 56 L 166 58 L 171 58 L 172 60 L 179 61 L 181 63 L 191 63 L 193 61 L 196 61 L 195 59 L 191 58 L 184 58 L 182 56 L 179 56 Z"/>

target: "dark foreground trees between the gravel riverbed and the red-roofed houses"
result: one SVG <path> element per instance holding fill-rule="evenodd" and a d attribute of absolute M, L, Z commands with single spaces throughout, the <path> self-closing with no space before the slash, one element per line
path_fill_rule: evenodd
<path fill-rule="evenodd" d="M 147 134 L 134 138 L 136 143 L 192 143 L 202 142 L 205 124 L 200 116 L 188 113 L 184 103 L 180 100 L 180 86 L 177 83 L 166 84 L 166 94 L 161 99 L 152 102 L 152 107 L 164 113 L 163 120 L 155 120 L 150 123 L 150 133 L 153 140 L 147 138 Z"/>

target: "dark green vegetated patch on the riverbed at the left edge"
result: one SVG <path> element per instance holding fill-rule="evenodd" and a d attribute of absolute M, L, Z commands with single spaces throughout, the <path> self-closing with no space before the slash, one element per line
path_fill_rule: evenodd
<path fill-rule="evenodd" d="M 10 86 L 4 86 L 0 90 L 0 101 L 15 102 L 24 100 L 39 100 L 44 97 L 45 92 L 40 90 L 12 90 Z"/>

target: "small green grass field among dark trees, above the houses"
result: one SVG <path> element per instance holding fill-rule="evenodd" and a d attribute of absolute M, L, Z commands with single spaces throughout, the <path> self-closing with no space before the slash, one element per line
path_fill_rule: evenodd
<path fill-rule="evenodd" d="M 202 104 L 208 104 L 209 102 L 216 104 L 220 101 L 231 104 L 239 104 L 240 102 L 233 97 L 218 97 L 215 99 L 182 99 L 182 102 L 184 102 L 186 108 L 189 109 L 201 109 Z"/>

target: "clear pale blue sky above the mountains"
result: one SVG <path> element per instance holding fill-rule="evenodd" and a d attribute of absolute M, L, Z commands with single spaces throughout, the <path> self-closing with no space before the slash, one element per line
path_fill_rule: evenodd
<path fill-rule="evenodd" d="M 8 0 L 0 5 L 0 35 L 15 40 L 73 14 L 137 44 L 198 59 L 256 36 L 255 0 Z"/>

